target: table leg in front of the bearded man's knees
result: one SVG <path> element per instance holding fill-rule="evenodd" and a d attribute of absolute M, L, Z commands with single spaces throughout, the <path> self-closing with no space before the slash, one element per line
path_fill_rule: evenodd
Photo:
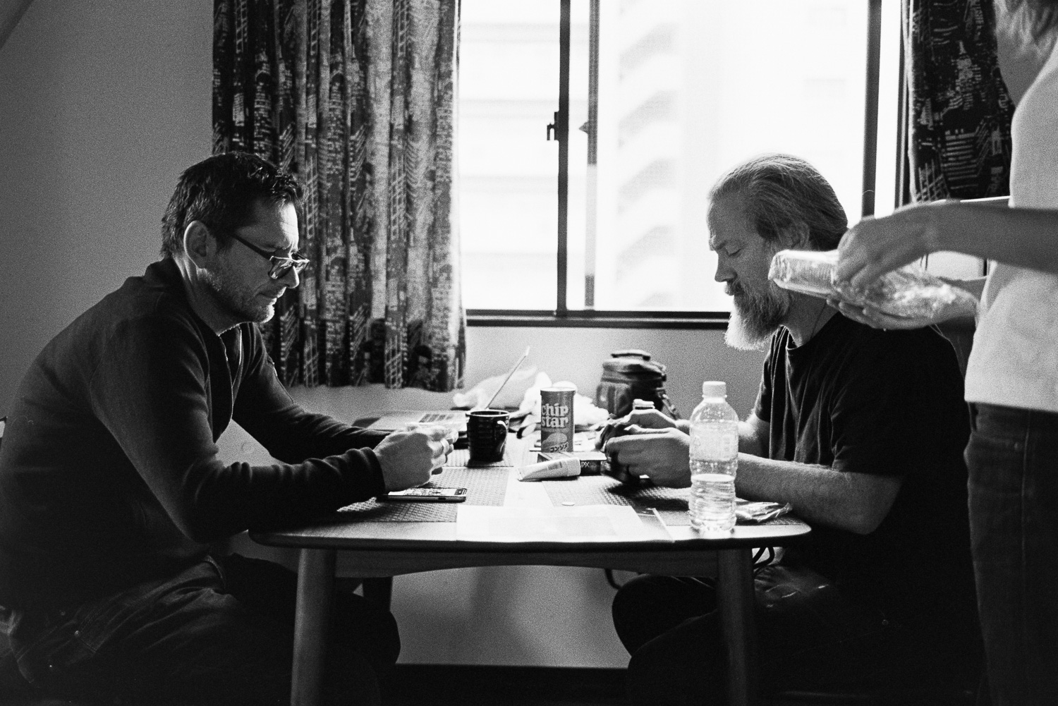
<path fill-rule="evenodd" d="M 753 558 L 749 549 L 718 549 L 716 593 L 728 653 L 728 703 L 756 703 Z"/>

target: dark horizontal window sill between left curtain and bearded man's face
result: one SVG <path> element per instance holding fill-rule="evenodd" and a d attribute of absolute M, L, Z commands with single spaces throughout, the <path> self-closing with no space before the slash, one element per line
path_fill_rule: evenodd
<path fill-rule="evenodd" d="M 468 309 L 468 326 L 727 329 L 726 311 L 565 311 Z"/>

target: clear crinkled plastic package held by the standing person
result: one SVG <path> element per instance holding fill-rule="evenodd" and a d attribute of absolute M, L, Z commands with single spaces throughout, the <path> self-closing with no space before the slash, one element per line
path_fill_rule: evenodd
<path fill-rule="evenodd" d="M 882 313 L 901 319 L 931 319 L 942 311 L 975 315 L 978 301 L 917 265 L 883 274 L 867 291 L 856 291 L 834 280 L 838 251 L 780 250 L 771 258 L 768 278 L 784 289 L 813 296 L 833 296 L 853 306 L 870 304 Z"/>

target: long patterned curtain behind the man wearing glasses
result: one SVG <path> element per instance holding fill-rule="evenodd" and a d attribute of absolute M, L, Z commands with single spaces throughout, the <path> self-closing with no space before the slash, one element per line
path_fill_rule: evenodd
<path fill-rule="evenodd" d="M 215 0 L 214 152 L 306 187 L 311 263 L 262 325 L 288 385 L 462 385 L 458 0 Z"/>

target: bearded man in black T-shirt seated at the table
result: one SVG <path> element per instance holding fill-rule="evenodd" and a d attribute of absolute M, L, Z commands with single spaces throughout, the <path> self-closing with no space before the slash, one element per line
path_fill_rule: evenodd
<path fill-rule="evenodd" d="M 972 678 L 980 636 L 966 514 L 969 435 L 954 351 L 936 331 L 882 331 L 768 280 L 783 249 L 831 250 L 846 230 L 834 189 L 770 155 L 710 194 L 716 279 L 734 297 L 727 343 L 767 347 L 740 422 L 740 497 L 790 503 L 804 545 L 755 572 L 760 685 L 850 691 Z M 688 422 L 634 413 L 607 455 L 690 485 Z M 726 657 L 709 578 L 642 576 L 614 600 L 633 703 L 724 703 Z M 967 673 L 969 672 L 969 673 Z"/>

